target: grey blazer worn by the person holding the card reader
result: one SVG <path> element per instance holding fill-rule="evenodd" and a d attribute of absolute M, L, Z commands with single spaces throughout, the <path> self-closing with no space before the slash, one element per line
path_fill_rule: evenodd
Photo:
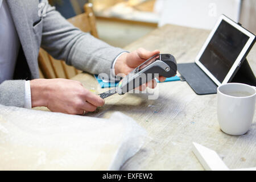
<path fill-rule="evenodd" d="M 30 78 L 38 78 L 38 53 L 42 46 L 55 59 L 90 73 L 110 75 L 112 62 L 124 50 L 115 48 L 81 32 L 68 23 L 55 7 L 47 6 L 46 16 L 38 15 L 39 0 L 8 0 L 19 35 Z M 21 63 L 17 60 L 17 63 Z M 24 72 L 24 70 L 19 70 Z M 0 84 L 0 104 L 24 107 L 25 80 Z"/>

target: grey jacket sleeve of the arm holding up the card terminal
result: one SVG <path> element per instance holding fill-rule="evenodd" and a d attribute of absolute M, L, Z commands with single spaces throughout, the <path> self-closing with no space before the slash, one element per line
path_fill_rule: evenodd
<path fill-rule="evenodd" d="M 48 6 L 43 17 L 42 35 L 42 47 L 53 57 L 93 74 L 110 75 L 113 60 L 124 51 L 81 32 L 52 6 Z"/>

